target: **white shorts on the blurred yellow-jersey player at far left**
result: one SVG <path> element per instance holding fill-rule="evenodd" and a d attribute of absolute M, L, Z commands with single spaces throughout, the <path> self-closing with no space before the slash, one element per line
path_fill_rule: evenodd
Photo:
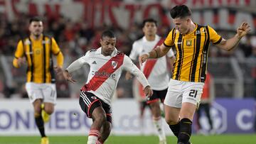
<path fill-rule="evenodd" d="M 57 94 L 55 84 L 27 82 L 26 91 L 28 92 L 28 98 L 31 103 L 36 101 L 36 99 L 43 99 L 43 102 L 52 104 L 56 103 Z"/>

